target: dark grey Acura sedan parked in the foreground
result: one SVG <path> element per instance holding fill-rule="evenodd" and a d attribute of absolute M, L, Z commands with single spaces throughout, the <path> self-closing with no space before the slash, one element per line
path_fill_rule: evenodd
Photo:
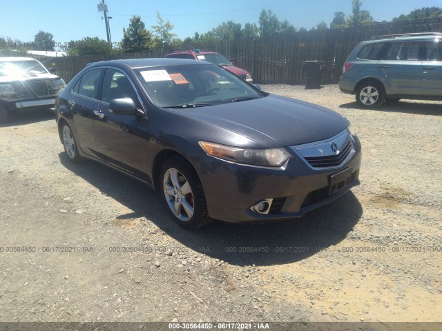
<path fill-rule="evenodd" d="M 209 62 L 92 63 L 55 108 L 70 161 L 150 185 L 184 228 L 301 217 L 359 184 L 361 143 L 347 119 Z"/>

